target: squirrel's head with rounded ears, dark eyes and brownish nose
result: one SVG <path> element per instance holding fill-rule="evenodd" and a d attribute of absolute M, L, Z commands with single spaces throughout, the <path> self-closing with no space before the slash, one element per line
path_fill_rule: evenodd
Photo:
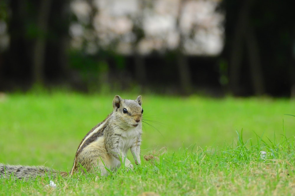
<path fill-rule="evenodd" d="M 136 100 L 122 99 L 119 95 L 116 95 L 113 100 L 114 114 L 122 120 L 122 125 L 129 127 L 137 127 L 142 124 L 141 96 L 138 96 Z"/>

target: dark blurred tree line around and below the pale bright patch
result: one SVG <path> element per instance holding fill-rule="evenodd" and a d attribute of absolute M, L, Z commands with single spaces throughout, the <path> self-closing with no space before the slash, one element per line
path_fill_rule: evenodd
<path fill-rule="evenodd" d="M 181 41 L 175 51 L 149 56 L 136 49 L 131 56 L 113 51 L 95 56 L 70 53 L 68 28 L 75 18 L 69 5 L 57 0 L 0 3 L 0 20 L 7 23 L 10 36 L 9 47 L 0 51 L 0 91 L 28 89 L 35 83 L 87 89 L 85 78 L 93 77 L 109 82 L 128 78 L 129 83 L 152 89 L 174 86 L 186 94 L 204 87 L 239 96 L 295 97 L 295 12 L 288 1 L 222 1 L 225 46 L 218 57 L 186 56 Z M 133 29 L 137 41 L 144 36 L 140 28 Z M 83 76 L 83 70 L 102 74 Z"/>

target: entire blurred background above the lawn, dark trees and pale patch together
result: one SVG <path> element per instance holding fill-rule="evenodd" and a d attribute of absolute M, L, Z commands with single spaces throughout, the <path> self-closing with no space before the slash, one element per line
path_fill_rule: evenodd
<path fill-rule="evenodd" d="M 294 98 L 288 2 L 1 0 L 0 91 Z"/>

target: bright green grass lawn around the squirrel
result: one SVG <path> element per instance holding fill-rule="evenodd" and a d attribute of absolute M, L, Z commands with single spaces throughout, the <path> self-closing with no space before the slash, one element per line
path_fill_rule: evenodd
<path fill-rule="evenodd" d="M 138 95 L 119 94 L 135 99 Z M 28 93 L 0 97 L 0 163 L 69 171 L 84 135 L 112 111 L 114 95 Z M 295 102 L 272 98 L 142 95 L 142 165 L 24 182 L 0 195 L 293 195 Z M 158 152 L 162 147 L 167 148 Z M 267 152 L 266 160 L 260 151 Z M 146 161 L 144 155 L 153 154 Z M 131 157 L 130 157 L 131 160 Z M 134 162 L 132 160 L 132 162 Z"/>

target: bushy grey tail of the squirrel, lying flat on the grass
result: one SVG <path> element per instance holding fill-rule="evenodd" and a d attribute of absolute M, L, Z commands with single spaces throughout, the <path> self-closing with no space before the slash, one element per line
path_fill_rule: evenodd
<path fill-rule="evenodd" d="M 68 172 L 60 172 L 49 167 L 43 166 L 23 166 L 23 165 L 4 165 L 0 163 L 0 178 L 17 177 L 19 179 L 36 178 L 37 176 L 56 177 L 60 174 L 62 177 L 69 175 Z"/>

